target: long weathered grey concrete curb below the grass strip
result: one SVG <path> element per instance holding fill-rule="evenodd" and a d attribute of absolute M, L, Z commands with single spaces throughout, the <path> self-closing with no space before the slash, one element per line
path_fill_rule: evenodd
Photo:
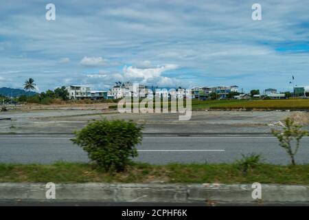
<path fill-rule="evenodd" d="M 46 201 L 46 184 L 2 183 L 0 200 Z M 262 184 L 262 199 L 253 199 L 251 184 L 56 184 L 53 201 L 107 202 L 308 202 L 309 186 Z"/>

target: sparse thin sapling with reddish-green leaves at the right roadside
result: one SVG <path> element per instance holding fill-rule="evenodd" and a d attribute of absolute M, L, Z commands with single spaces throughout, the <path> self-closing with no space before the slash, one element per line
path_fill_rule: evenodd
<path fill-rule="evenodd" d="M 299 149 L 300 140 L 305 135 L 308 135 L 308 131 L 302 131 L 300 125 L 295 124 L 292 119 L 286 118 L 283 131 L 273 129 L 271 133 L 277 137 L 279 145 L 286 150 L 292 164 L 295 165 L 295 155 Z M 292 142 L 296 142 L 294 147 Z"/>

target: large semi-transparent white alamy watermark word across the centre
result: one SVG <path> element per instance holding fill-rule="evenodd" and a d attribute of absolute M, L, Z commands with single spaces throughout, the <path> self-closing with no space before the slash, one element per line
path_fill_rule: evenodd
<path fill-rule="evenodd" d="M 120 88 L 119 113 L 179 113 L 179 120 L 190 120 L 192 116 L 191 89 L 139 89 L 138 84 Z"/>

